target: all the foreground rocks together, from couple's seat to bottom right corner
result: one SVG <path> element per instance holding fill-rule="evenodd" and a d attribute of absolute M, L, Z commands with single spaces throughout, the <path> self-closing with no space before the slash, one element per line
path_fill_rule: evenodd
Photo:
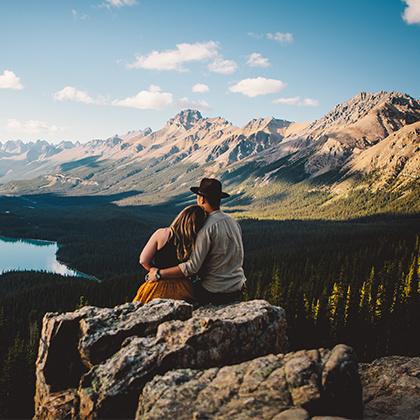
<path fill-rule="evenodd" d="M 196 310 L 155 300 L 46 314 L 35 418 L 362 417 L 350 347 L 286 350 L 285 312 L 262 300 Z M 380 359 L 360 372 L 367 418 L 416 418 L 420 359 Z"/>

